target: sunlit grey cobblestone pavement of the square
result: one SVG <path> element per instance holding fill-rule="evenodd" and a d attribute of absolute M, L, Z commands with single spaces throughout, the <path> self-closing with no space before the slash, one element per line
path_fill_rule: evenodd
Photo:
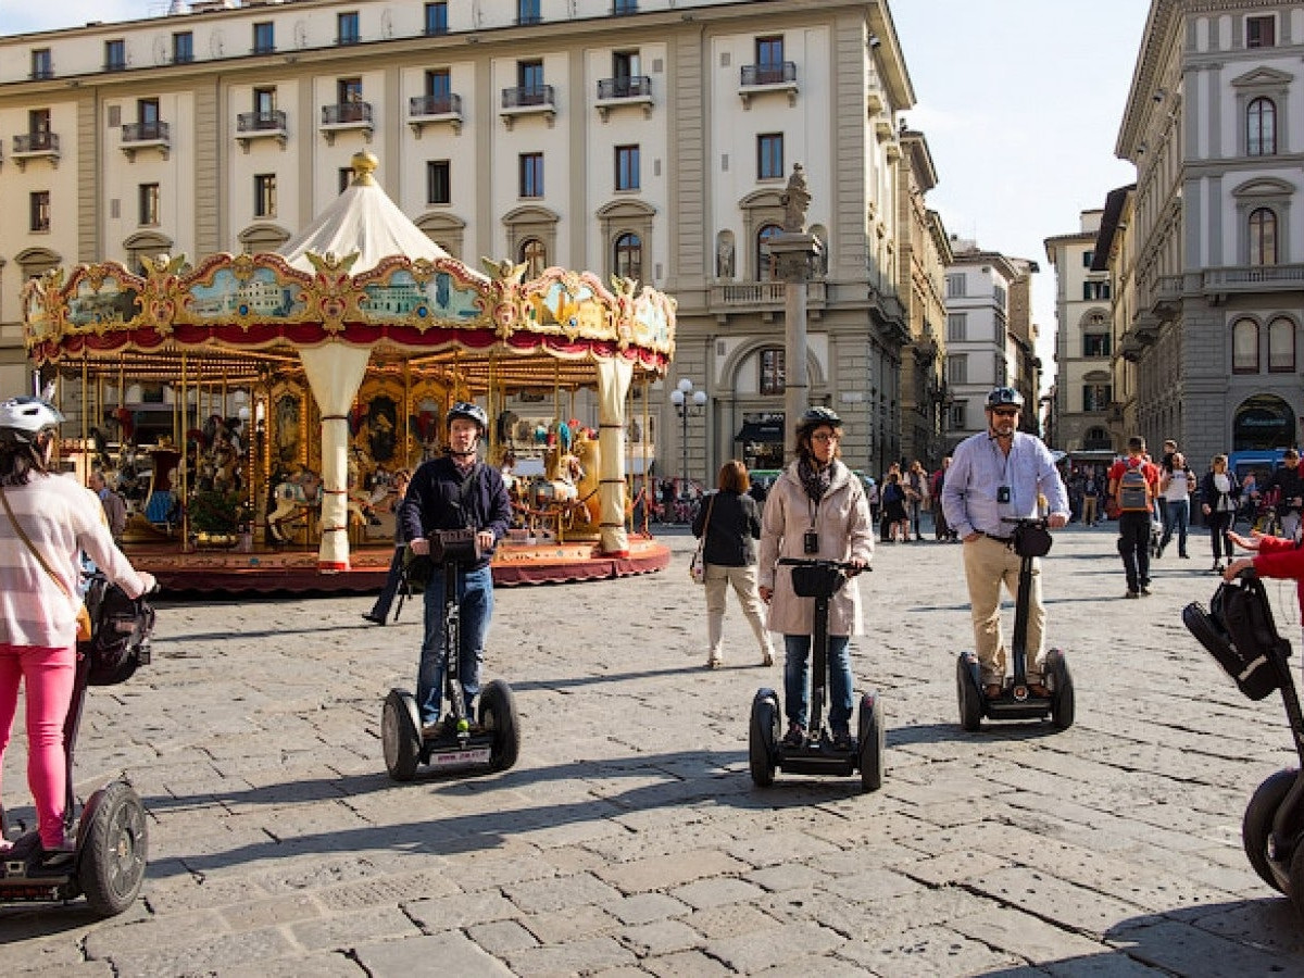
<path fill-rule="evenodd" d="M 1213 592 L 1208 539 L 1121 601 L 1112 529 L 1058 535 L 1064 733 L 961 732 L 961 548 L 880 545 L 853 644 L 887 705 L 871 795 L 752 786 L 748 705 L 780 668 L 730 599 L 726 668 L 703 669 L 692 540 L 668 539 L 657 575 L 498 592 L 486 677 L 524 730 L 501 775 L 386 776 L 411 606 L 377 629 L 360 597 L 163 602 L 154 664 L 93 690 L 77 759 L 81 793 L 125 769 L 145 799 L 142 896 L 102 922 L 0 909 L 5 974 L 1304 973 L 1299 918 L 1240 846 L 1254 786 L 1292 760 L 1281 702 L 1241 698 L 1179 617 Z M 1270 587 L 1299 635 L 1294 585 Z M 18 737 L 4 782 L 30 819 L 23 763 Z"/>

